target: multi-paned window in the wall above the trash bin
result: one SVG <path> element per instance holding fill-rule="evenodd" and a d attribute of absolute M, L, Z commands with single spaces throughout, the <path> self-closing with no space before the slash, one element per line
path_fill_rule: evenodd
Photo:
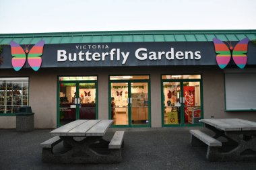
<path fill-rule="evenodd" d="M 13 114 L 28 105 L 28 77 L 0 78 L 0 114 Z"/>

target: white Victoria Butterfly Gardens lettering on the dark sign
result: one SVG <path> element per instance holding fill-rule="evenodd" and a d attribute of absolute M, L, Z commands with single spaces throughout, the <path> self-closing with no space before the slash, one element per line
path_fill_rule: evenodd
<path fill-rule="evenodd" d="M 57 50 L 57 61 L 59 62 L 76 62 L 76 61 L 105 61 L 105 60 L 117 60 L 121 61 L 122 65 L 125 65 L 129 58 L 130 52 L 123 52 L 120 48 L 109 49 L 108 45 L 77 45 L 75 46 L 79 52 L 67 52 L 66 50 Z M 95 52 L 96 49 L 103 49 L 104 52 Z M 105 52 L 109 49 L 108 52 Z M 134 54 L 137 60 L 200 60 L 200 51 L 180 51 L 170 48 L 168 51 L 148 51 L 147 48 L 138 48 Z"/>

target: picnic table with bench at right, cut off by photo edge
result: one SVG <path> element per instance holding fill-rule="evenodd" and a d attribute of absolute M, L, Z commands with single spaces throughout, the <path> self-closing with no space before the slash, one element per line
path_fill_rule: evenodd
<path fill-rule="evenodd" d="M 241 119 L 201 119 L 205 128 L 215 132 L 209 136 L 190 130 L 191 145 L 207 145 L 210 161 L 256 161 L 256 122 Z"/>

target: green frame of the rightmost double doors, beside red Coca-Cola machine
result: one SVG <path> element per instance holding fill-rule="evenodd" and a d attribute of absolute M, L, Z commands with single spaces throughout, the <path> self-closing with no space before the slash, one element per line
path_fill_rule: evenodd
<path fill-rule="evenodd" d="M 162 77 L 162 76 L 161 76 Z M 200 109 L 201 118 L 203 118 L 203 81 L 202 79 L 162 79 L 161 78 L 161 103 L 164 103 L 164 82 L 179 82 L 181 83 L 181 96 L 183 96 L 183 85 L 184 82 L 200 82 Z M 164 105 L 162 105 L 162 127 L 177 127 L 177 126 L 202 126 L 201 123 L 198 124 L 185 124 L 184 120 L 184 108 L 185 103 L 181 103 L 181 124 L 164 124 Z"/>

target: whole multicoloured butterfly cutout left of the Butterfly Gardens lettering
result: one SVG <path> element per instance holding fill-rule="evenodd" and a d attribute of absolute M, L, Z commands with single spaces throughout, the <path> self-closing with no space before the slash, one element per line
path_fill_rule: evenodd
<path fill-rule="evenodd" d="M 22 46 L 17 44 L 16 42 L 11 41 L 11 64 L 15 71 L 19 71 L 25 65 L 26 62 L 26 54 L 28 54 L 28 65 L 34 70 L 38 71 L 42 63 L 42 50 L 44 48 L 44 41 L 40 41 L 36 43 L 30 50 L 28 50 L 29 46 L 26 46 L 26 50 L 24 51 Z"/>

